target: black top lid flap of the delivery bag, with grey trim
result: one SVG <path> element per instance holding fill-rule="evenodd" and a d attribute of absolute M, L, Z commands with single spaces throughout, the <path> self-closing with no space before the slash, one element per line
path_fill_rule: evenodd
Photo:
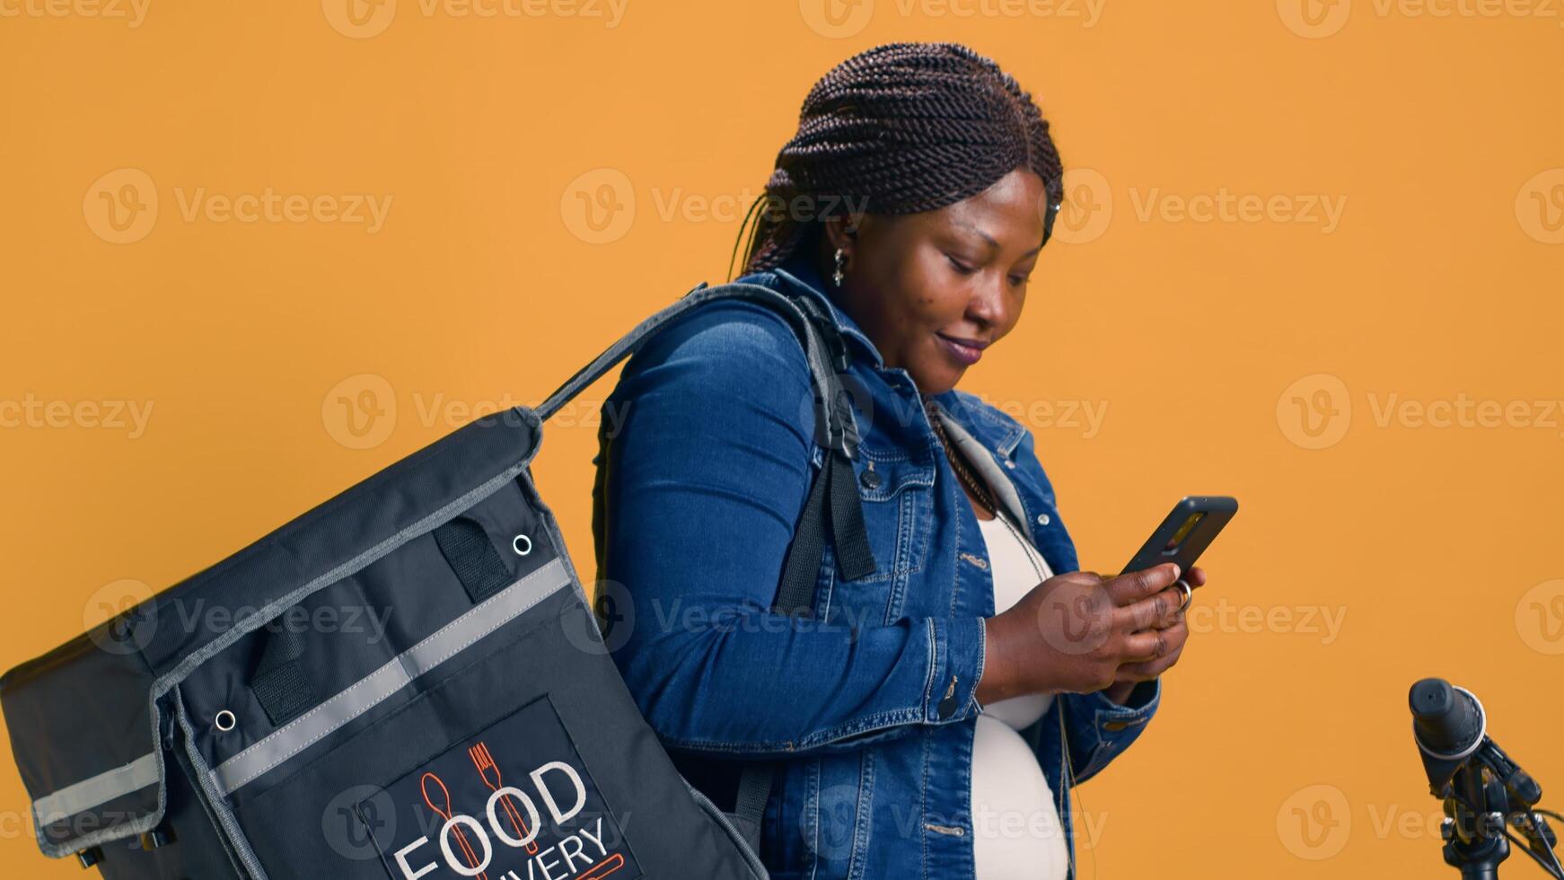
<path fill-rule="evenodd" d="M 0 708 L 42 852 L 156 830 L 174 761 L 164 696 L 208 656 L 515 481 L 540 438 L 529 408 L 477 419 L 9 671 Z"/>

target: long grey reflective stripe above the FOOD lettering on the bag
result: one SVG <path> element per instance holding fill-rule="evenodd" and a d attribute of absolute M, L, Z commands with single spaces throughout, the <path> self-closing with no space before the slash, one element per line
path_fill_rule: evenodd
<path fill-rule="evenodd" d="M 213 783 L 224 796 L 233 794 L 569 583 L 565 563 L 558 558 L 549 561 L 541 569 L 474 605 L 471 611 L 399 653 L 346 691 L 217 764 L 211 771 Z"/>

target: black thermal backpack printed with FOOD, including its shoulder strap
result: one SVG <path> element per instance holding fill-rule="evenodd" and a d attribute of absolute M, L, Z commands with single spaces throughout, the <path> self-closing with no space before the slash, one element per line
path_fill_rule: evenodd
<path fill-rule="evenodd" d="M 477 419 L 0 678 L 38 844 L 111 880 L 765 880 L 771 771 L 719 810 L 604 642 L 530 463 L 543 422 L 702 303 L 782 314 L 826 455 L 777 608 L 873 567 L 820 303 L 701 284 L 536 410 Z M 633 585 L 632 585 L 633 589 Z"/>

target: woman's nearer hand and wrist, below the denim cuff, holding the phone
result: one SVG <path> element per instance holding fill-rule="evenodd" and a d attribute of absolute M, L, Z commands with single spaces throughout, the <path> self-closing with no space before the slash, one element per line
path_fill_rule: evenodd
<path fill-rule="evenodd" d="M 1085 694 L 1114 685 L 1125 667 L 1139 674 L 1157 669 L 1182 650 L 1189 635 L 1178 611 L 1184 591 L 1175 589 L 1175 581 L 1178 566 L 1165 563 L 1112 578 L 1070 572 L 1037 585 L 1012 608 L 984 621 L 978 700 Z"/>

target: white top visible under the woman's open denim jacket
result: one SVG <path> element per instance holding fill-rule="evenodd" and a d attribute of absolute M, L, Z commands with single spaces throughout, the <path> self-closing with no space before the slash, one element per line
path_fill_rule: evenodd
<path fill-rule="evenodd" d="M 998 516 L 978 524 L 988 546 L 993 611 L 998 614 L 1053 577 L 1053 571 L 1043 555 L 1017 538 Z M 1068 874 L 1070 852 L 1054 792 L 1037 755 L 1017 733 L 1043 717 L 1053 700 L 1051 694 L 1010 697 L 984 707 L 978 716 L 971 767 L 978 880 L 1062 880 Z"/>

